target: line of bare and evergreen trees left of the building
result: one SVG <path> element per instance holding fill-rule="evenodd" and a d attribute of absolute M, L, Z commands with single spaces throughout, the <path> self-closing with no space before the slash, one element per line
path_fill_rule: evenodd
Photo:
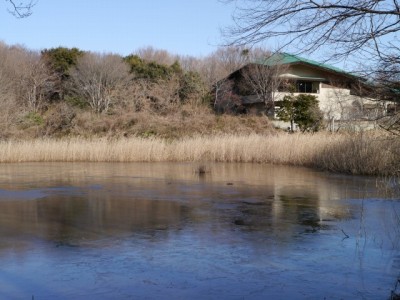
<path fill-rule="evenodd" d="M 168 114 L 185 105 L 209 107 L 212 85 L 261 53 L 228 47 L 198 58 L 146 47 L 121 56 L 0 43 L 0 128 L 39 124 L 54 107 L 73 111 L 67 123 L 82 111 Z"/>

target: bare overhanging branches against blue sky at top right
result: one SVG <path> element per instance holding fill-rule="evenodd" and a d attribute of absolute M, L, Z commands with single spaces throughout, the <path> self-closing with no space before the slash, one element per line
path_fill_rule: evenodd
<path fill-rule="evenodd" d="M 227 0 L 233 2 L 233 0 Z M 303 51 L 334 49 L 334 56 L 373 54 L 399 60 L 398 0 L 239 0 L 237 26 L 225 33 L 234 44 L 278 37 Z"/>

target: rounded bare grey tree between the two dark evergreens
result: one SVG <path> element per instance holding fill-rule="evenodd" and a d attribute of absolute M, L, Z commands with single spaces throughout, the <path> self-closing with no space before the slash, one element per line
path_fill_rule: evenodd
<path fill-rule="evenodd" d="M 85 53 L 71 72 L 75 93 L 96 112 L 107 112 L 129 83 L 129 66 L 118 55 Z"/>

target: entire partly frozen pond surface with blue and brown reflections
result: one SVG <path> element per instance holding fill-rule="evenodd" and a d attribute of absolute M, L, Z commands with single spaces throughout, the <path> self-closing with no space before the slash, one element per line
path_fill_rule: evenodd
<path fill-rule="evenodd" d="M 0 299 L 388 299 L 400 201 L 257 164 L 1 164 Z"/>

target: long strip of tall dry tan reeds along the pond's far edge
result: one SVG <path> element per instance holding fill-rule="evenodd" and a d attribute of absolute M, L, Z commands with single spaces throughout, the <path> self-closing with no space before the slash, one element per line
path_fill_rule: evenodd
<path fill-rule="evenodd" d="M 398 139 L 376 134 L 36 139 L 0 142 L 0 162 L 254 162 L 393 175 L 400 170 L 399 149 Z"/>

